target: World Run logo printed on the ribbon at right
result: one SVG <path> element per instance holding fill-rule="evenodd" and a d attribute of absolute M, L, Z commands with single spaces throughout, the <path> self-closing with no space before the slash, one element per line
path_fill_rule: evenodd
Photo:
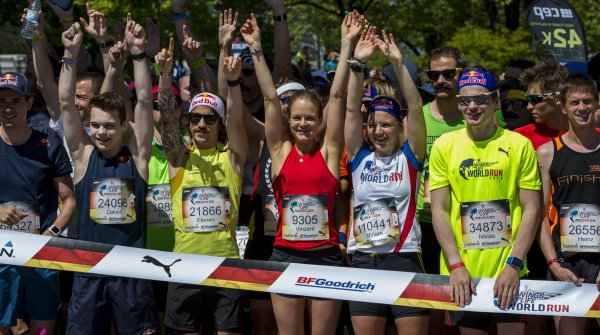
<path fill-rule="evenodd" d="M 561 296 L 561 293 L 534 291 L 531 286 L 525 285 L 524 290 L 519 291 L 517 298 L 510 305 L 509 311 L 531 311 L 548 313 L 569 313 L 571 305 L 553 304 L 552 298 Z M 494 298 L 494 306 L 500 308 L 498 299 Z"/>

